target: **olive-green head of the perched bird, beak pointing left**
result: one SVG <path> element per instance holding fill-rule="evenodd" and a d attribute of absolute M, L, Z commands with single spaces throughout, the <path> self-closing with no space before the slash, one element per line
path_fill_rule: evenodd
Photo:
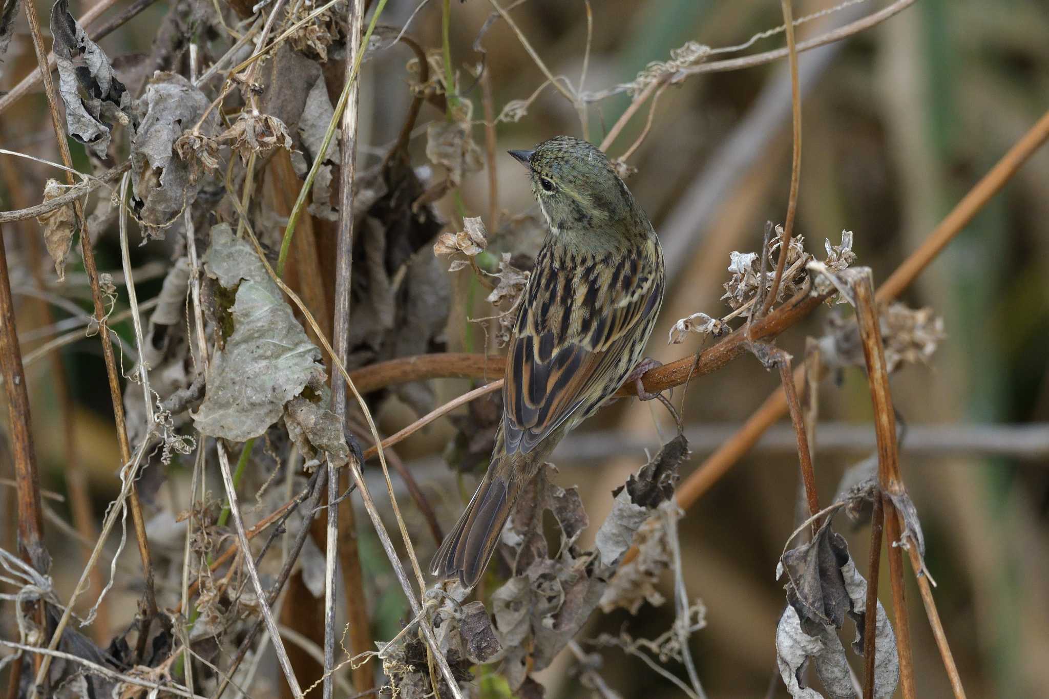
<path fill-rule="evenodd" d="M 611 233 L 636 218 L 626 184 L 608 157 L 585 140 L 557 136 L 535 150 L 510 154 L 529 169 L 532 192 L 555 235 Z"/>

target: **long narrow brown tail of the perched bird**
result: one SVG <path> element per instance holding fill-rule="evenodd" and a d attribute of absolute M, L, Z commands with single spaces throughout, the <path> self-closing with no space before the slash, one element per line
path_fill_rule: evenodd
<path fill-rule="evenodd" d="M 488 567 L 499 543 L 502 525 L 510 517 L 520 490 L 499 473 L 506 469 L 495 466 L 492 464 L 488 469 L 463 517 L 445 536 L 430 563 L 432 574 L 440 577 L 458 575 L 463 585 L 473 587 Z"/>

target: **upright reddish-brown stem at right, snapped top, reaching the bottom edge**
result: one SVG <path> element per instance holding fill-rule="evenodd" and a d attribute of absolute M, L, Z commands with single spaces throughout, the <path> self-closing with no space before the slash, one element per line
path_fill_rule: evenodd
<path fill-rule="evenodd" d="M 889 533 L 889 572 L 893 584 L 893 613 L 896 617 L 896 638 L 900 657 L 900 683 L 904 699 L 914 699 L 917 695 L 914 662 L 911 657 L 911 628 L 907 621 L 906 597 L 903 593 L 903 556 L 899 546 L 895 545 L 900 541 L 901 528 L 892 501 L 892 496 L 903 494 L 904 488 L 897 449 L 896 412 L 893 410 L 893 396 L 889 390 L 889 369 L 885 365 L 885 350 L 881 344 L 874 282 L 870 270 L 853 283 L 852 291 L 856 302 L 856 323 L 859 325 L 859 336 L 863 345 L 868 384 L 871 387 L 871 401 L 874 403 L 874 431 L 878 440 L 878 486 L 884 507 L 885 529 Z M 868 617 L 868 624 L 873 620 Z"/>

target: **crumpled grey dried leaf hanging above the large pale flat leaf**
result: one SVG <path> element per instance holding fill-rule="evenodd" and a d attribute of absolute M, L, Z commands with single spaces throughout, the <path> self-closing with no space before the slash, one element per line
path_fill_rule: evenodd
<path fill-rule="evenodd" d="M 174 145 L 208 106 L 208 97 L 192 83 L 169 72 L 155 73 L 135 104 L 140 116 L 131 139 L 131 202 L 150 235 L 174 222 L 200 191 L 200 183 L 190 176 L 190 163 L 176 155 Z M 214 135 L 217 119 L 212 112 L 198 132 Z"/>

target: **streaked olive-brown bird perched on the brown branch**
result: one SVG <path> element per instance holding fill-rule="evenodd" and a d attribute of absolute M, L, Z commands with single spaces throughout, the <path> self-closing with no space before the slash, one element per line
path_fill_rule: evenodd
<path fill-rule="evenodd" d="M 477 492 L 430 572 L 476 584 L 524 485 L 561 438 L 593 415 L 639 365 L 663 302 L 663 250 L 607 156 L 558 136 L 510 151 L 529 169 L 550 226 L 507 353 L 502 421 Z"/>

